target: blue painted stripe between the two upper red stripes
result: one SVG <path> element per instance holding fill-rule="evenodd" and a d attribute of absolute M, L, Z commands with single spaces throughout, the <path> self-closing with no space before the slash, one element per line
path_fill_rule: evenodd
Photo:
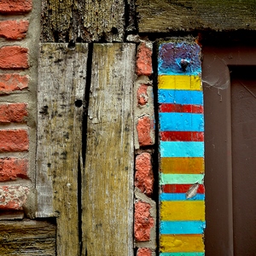
<path fill-rule="evenodd" d="M 160 131 L 204 131 L 202 113 L 159 113 Z"/>

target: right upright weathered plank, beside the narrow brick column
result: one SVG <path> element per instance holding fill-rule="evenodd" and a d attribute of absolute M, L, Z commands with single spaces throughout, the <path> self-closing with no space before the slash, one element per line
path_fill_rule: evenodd
<path fill-rule="evenodd" d="M 133 255 L 135 44 L 95 44 L 83 178 L 83 255 Z"/>

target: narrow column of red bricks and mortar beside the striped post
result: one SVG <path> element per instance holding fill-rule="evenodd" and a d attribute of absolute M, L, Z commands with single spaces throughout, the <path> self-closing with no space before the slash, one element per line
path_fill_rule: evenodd
<path fill-rule="evenodd" d="M 156 245 L 156 209 L 152 200 L 154 173 L 154 99 L 152 46 L 141 41 L 137 47 L 137 79 L 135 82 L 135 206 L 134 239 L 137 256 L 153 256 Z"/>

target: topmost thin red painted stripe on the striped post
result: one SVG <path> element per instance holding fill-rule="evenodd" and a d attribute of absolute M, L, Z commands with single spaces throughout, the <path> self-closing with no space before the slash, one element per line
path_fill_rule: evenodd
<path fill-rule="evenodd" d="M 161 104 L 159 112 L 204 113 L 201 105 Z"/>

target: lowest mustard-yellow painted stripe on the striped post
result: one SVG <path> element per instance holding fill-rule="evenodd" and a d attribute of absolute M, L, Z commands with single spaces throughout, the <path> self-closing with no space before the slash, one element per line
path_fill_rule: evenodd
<path fill-rule="evenodd" d="M 161 235 L 161 253 L 203 253 L 204 242 L 202 235 Z"/>

